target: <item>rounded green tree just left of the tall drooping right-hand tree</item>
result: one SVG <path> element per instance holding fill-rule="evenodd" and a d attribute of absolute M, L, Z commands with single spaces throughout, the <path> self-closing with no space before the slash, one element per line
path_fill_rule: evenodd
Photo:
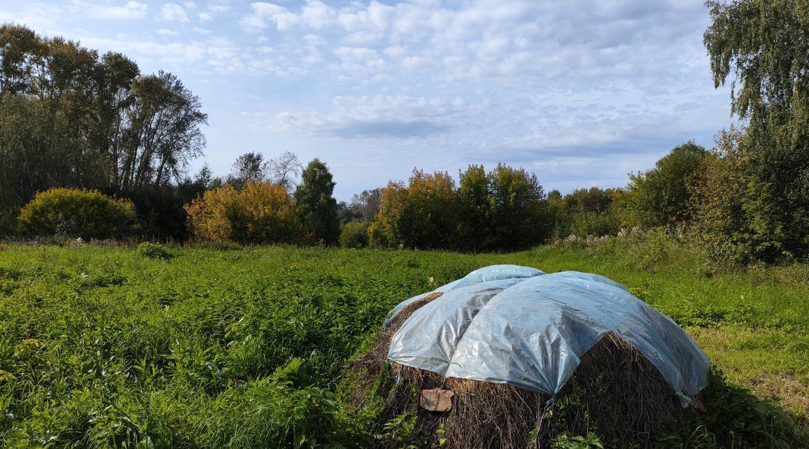
<path fill-rule="evenodd" d="M 628 227 L 673 227 L 691 220 L 688 184 L 700 176 L 707 151 L 685 142 L 647 172 L 629 174 L 621 215 Z"/>

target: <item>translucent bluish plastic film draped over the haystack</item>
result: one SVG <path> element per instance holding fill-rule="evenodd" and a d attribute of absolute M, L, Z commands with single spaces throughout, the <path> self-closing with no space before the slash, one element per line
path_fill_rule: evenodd
<path fill-rule="evenodd" d="M 434 291 L 443 295 L 404 321 L 388 359 L 553 396 L 612 332 L 646 356 L 684 404 L 708 384 L 708 358 L 691 337 L 607 277 L 493 265 Z"/>

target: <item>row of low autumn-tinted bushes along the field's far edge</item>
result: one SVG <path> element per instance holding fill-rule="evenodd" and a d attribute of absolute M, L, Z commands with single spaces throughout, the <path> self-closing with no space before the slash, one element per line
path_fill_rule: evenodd
<path fill-rule="evenodd" d="M 522 168 L 499 164 L 487 172 L 472 165 L 459 172 L 457 184 L 447 172 L 414 170 L 407 183 L 355 196 L 350 206 L 337 205 L 331 173 L 315 159 L 294 194 L 260 180 L 202 191 L 180 210 L 187 227 L 176 235 L 216 244 L 477 252 L 662 228 L 692 236 L 714 261 L 727 265 L 807 256 L 805 208 L 785 215 L 781 203 L 790 197 L 773 197 L 769 187 L 744 175 L 743 146 L 750 143 L 742 133 L 723 133 L 718 142 L 714 151 L 693 142 L 676 146 L 649 171 L 630 173 L 625 188 L 582 188 L 564 196 L 553 190 L 546 196 L 536 176 Z M 17 230 L 23 236 L 85 239 L 145 234 L 159 219 L 159 206 L 146 220 L 137 209 L 132 201 L 96 191 L 52 188 L 23 208 Z M 786 226 L 790 220 L 797 224 Z"/>

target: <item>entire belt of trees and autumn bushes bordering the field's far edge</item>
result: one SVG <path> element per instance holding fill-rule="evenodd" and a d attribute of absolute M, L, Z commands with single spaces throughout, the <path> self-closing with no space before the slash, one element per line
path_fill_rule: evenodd
<path fill-rule="evenodd" d="M 131 198 L 142 234 L 181 239 L 498 251 L 637 227 L 688 235 L 717 261 L 802 260 L 809 256 L 802 5 L 707 3 L 714 83 L 734 86 L 731 112 L 742 122 L 719 133 L 712 149 L 685 142 L 652 169 L 630 173 L 622 188 L 546 193 L 522 168 L 472 165 L 457 178 L 414 170 L 407 182 L 349 203 L 332 196 L 324 163 L 304 168 L 291 153 L 269 160 L 247 153 L 224 179 L 207 168 L 188 177 L 206 117 L 176 77 L 142 75 L 121 54 L 99 57 L 5 25 L 0 214 L 9 231 L 37 191 L 82 187 Z"/>

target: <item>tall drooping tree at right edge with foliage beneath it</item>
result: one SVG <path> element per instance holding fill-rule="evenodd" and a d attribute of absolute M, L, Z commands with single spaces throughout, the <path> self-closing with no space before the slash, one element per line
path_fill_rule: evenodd
<path fill-rule="evenodd" d="M 713 167 L 732 170 L 726 201 L 738 205 L 711 239 L 750 258 L 809 252 L 809 2 L 739 0 L 706 3 L 705 31 L 714 83 L 730 79 L 731 112 L 746 123 L 723 144 Z M 732 133 L 732 131 L 731 131 Z M 715 188 L 721 177 L 709 176 Z M 702 192 L 710 196 L 711 192 Z M 716 204 L 699 201 L 700 217 Z M 714 223 L 718 224 L 718 223 Z M 718 231 L 721 229 L 722 231 Z"/>

